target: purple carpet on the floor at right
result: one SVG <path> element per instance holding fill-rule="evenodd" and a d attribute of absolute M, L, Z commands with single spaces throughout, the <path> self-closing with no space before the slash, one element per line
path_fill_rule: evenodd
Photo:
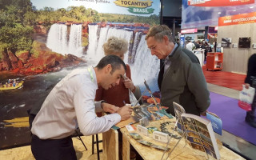
<path fill-rule="evenodd" d="M 222 119 L 222 129 L 256 145 L 256 129 L 245 121 L 246 110 L 238 107 L 238 100 L 210 92 L 209 111 Z"/>

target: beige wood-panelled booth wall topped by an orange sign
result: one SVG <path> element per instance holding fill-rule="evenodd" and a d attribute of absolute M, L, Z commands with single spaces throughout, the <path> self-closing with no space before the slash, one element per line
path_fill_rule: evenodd
<path fill-rule="evenodd" d="M 218 19 L 218 47 L 223 47 L 223 70 L 246 74 L 247 62 L 256 51 L 256 12 Z"/>

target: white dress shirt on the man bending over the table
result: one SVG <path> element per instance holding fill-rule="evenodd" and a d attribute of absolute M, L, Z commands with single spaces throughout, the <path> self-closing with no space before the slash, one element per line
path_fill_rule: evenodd
<path fill-rule="evenodd" d="M 66 138 L 74 134 L 77 122 L 84 135 L 98 134 L 110 130 L 120 122 L 119 114 L 108 114 L 100 118 L 101 102 L 94 102 L 98 89 L 93 67 L 73 70 L 51 90 L 41 110 L 34 118 L 31 132 L 41 139 Z"/>

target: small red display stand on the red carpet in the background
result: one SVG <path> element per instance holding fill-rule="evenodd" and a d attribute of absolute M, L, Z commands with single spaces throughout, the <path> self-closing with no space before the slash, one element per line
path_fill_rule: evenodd
<path fill-rule="evenodd" d="M 206 70 L 222 70 L 223 66 L 223 53 L 210 52 L 207 53 Z"/>

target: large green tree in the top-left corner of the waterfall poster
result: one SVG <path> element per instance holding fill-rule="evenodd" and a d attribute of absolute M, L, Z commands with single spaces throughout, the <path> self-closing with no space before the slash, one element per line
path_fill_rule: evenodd
<path fill-rule="evenodd" d="M 0 48 L 15 53 L 31 49 L 31 34 L 35 15 L 30 0 L 2 0 L 0 2 Z"/>

